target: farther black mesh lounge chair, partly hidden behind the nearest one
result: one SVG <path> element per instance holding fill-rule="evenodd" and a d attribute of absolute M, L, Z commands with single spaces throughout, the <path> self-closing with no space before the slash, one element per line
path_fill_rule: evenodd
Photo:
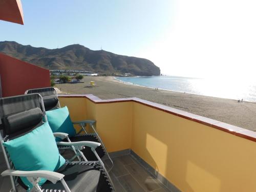
<path fill-rule="evenodd" d="M 57 91 L 50 87 L 50 88 L 39 88 L 39 89 L 30 89 L 25 92 L 25 94 L 31 94 L 31 93 L 39 93 L 42 96 L 42 99 L 44 100 L 46 111 L 55 110 L 60 108 L 59 100 L 58 100 L 58 94 Z M 73 122 L 73 124 L 79 124 L 81 126 L 80 131 L 77 133 L 74 137 L 69 137 L 67 139 L 70 139 L 71 141 L 94 141 L 94 142 L 100 142 L 101 146 L 96 148 L 96 152 L 99 155 L 100 158 L 102 158 L 104 155 L 108 156 L 110 159 L 112 166 L 110 167 L 109 171 L 113 168 L 114 163 L 112 159 L 110 158 L 109 153 L 106 151 L 105 145 L 103 144 L 100 136 L 98 135 L 96 129 L 95 129 L 95 120 L 82 120 L 82 121 L 76 121 Z M 86 125 L 89 124 L 92 127 L 93 134 L 89 134 L 86 131 Z M 81 133 L 84 132 L 83 135 Z M 59 149 L 63 149 L 63 147 L 59 147 Z M 81 152 L 84 154 L 87 160 L 95 161 L 97 158 L 92 153 L 91 149 L 87 146 L 83 147 Z"/>

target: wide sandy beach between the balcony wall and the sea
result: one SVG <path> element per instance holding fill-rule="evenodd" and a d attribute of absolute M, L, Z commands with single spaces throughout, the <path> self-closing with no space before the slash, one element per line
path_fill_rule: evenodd
<path fill-rule="evenodd" d="M 84 83 L 57 84 L 62 93 L 93 94 L 101 99 L 138 97 L 196 115 L 256 131 L 256 103 L 133 86 L 113 77 L 83 78 Z M 90 81 L 96 86 L 91 88 Z"/>

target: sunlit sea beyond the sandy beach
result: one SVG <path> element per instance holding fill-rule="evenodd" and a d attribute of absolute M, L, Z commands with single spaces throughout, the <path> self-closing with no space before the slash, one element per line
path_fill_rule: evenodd
<path fill-rule="evenodd" d="M 117 80 L 153 89 L 256 102 L 256 80 L 241 78 L 191 78 L 179 76 L 116 77 Z"/>

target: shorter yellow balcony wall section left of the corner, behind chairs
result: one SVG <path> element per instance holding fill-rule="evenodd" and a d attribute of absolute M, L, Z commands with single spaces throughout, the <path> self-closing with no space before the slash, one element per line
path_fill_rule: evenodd
<path fill-rule="evenodd" d="M 61 106 L 68 106 L 73 121 L 97 121 L 97 132 L 108 152 L 131 148 L 132 102 L 95 104 L 84 97 L 73 97 L 60 98 L 60 103 Z M 78 129 L 76 126 L 76 130 Z"/>

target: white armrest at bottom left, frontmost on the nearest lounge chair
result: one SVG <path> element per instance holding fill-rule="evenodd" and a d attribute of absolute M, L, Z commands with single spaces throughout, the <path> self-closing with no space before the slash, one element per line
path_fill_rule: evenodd
<path fill-rule="evenodd" d="M 1 174 L 4 176 L 18 176 L 18 177 L 42 177 L 45 178 L 52 183 L 56 183 L 57 181 L 61 180 L 65 175 L 57 173 L 57 172 L 51 172 L 49 170 L 33 170 L 33 171 L 23 171 L 23 170 L 12 170 L 7 169 Z"/>

